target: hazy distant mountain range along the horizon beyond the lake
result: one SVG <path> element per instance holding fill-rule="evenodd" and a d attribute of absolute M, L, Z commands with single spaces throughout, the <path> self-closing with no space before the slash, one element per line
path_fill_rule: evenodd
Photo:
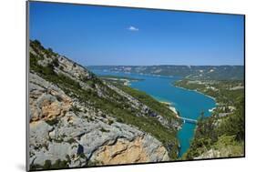
<path fill-rule="evenodd" d="M 159 76 L 182 76 L 189 79 L 244 79 L 244 66 L 87 66 L 87 68 Z"/>

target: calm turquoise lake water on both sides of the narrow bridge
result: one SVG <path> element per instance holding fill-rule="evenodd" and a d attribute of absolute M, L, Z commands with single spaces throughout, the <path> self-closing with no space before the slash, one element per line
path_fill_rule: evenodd
<path fill-rule="evenodd" d="M 197 119 L 202 111 L 205 113 L 205 116 L 210 116 L 209 109 L 215 106 L 215 101 L 208 96 L 173 86 L 175 81 L 180 79 L 178 76 L 145 76 L 102 70 L 92 71 L 98 76 L 129 76 L 144 79 L 142 81 L 131 82 L 130 86 L 144 91 L 160 101 L 171 103 L 179 110 L 180 116 Z M 194 135 L 195 126 L 194 124 L 185 123 L 182 125 L 182 129 L 179 130 L 179 157 L 188 150 L 189 141 Z"/>

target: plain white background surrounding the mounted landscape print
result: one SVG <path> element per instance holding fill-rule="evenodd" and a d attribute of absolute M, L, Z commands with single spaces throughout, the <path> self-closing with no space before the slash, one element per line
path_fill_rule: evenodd
<path fill-rule="evenodd" d="M 53 0 L 55 1 L 55 0 Z M 235 13 L 246 15 L 246 158 L 97 167 L 68 171 L 243 171 L 254 168 L 256 113 L 255 5 L 251 0 L 61 0 L 97 5 L 122 5 L 162 9 Z M 25 171 L 26 162 L 26 2 L 5 0 L 0 6 L 1 171 Z M 250 93 L 250 94 L 249 94 Z M 67 170 L 62 170 L 67 171 Z"/>

